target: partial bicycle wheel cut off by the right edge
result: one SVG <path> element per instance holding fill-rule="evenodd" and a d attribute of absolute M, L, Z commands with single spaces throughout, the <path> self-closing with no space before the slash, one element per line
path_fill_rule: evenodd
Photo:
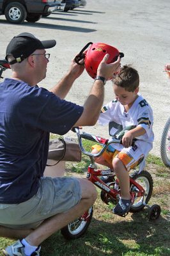
<path fill-rule="evenodd" d="M 164 126 L 160 140 L 160 156 L 166 166 L 170 166 L 170 117 Z"/>

